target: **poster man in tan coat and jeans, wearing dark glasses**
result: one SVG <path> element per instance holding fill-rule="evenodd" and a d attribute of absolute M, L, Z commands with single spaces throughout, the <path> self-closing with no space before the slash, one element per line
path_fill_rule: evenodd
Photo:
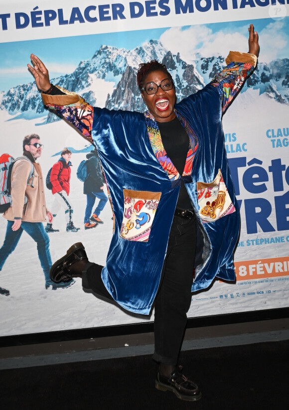
<path fill-rule="evenodd" d="M 74 280 L 55 284 L 49 278 L 52 265 L 49 251 L 49 237 L 42 222 L 52 221 L 52 213 L 47 209 L 44 195 L 44 181 L 41 166 L 36 162 L 42 154 L 43 145 L 37 134 L 27 135 L 23 140 L 23 157 L 16 160 L 11 172 L 12 205 L 4 212 L 7 219 L 5 239 L 0 248 L 0 270 L 15 249 L 23 232 L 37 243 L 38 257 L 45 277 L 45 288 L 66 288 L 75 283 Z M 31 170 L 32 175 L 31 175 Z M 30 176 L 30 178 L 29 178 Z M 7 289 L 0 287 L 0 295 L 9 295 Z"/>

